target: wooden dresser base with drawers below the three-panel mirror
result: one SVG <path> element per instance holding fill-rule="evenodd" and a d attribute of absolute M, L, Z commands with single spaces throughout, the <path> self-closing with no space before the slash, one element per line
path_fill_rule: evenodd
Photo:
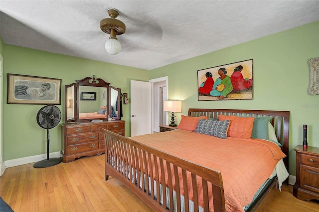
<path fill-rule="evenodd" d="M 62 124 L 62 162 L 68 163 L 82 156 L 105 153 L 105 141 L 102 129 L 125 136 L 125 121 Z"/>

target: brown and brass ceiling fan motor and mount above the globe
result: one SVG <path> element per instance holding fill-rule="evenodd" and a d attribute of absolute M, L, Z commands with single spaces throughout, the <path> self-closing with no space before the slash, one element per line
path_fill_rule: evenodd
<path fill-rule="evenodd" d="M 110 18 L 104 18 L 100 21 L 101 30 L 107 34 L 111 34 L 111 36 L 113 33 L 115 33 L 115 35 L 124 34 L 125 24 L 121 20 L 115 19 L 118 17 L 119 11 L 115 8 L 109 8 L 108 14 Z"/>

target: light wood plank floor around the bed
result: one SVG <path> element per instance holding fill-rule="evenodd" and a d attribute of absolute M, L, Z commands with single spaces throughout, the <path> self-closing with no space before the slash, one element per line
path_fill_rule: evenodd
<path fill-rule="evenodd" d="M 0 196 L 14 212 L 153 212 L 122 183 L 104 181 L 105 155 L 36 169 L 33 164 L 7 168 Z M 283 186 L 266 212 L 319 212 L 318 202 L 304 202 Z"/>

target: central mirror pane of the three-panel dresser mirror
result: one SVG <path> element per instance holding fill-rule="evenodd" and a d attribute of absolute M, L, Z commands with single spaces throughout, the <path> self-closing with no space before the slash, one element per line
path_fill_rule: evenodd
<path fill-rule="evenodd" d="M 95 93 L 95 100 L 81 100 L 79 98 L 79 119 L 104 119 L 107 118 L 107 87 L 79 86 L 82 92 Z"/>

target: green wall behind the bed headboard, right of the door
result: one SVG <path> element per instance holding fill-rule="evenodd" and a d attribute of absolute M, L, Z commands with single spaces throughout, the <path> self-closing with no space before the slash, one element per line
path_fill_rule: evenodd
<path fill-rule="evenodd" d="M 234 45 L 150 72 L 168 76 L 168 98 L 188 108 L 287 110 L 290 119 L 289 173 L 296 173 L 296 145 L 308 124 L 308 145 L 319 147 L 319 95 L 309 95 L 309 59 L 319 57 L 319 21 Z M 197 70 L 253 59 L 253 100 L 198 101 Z"/>

